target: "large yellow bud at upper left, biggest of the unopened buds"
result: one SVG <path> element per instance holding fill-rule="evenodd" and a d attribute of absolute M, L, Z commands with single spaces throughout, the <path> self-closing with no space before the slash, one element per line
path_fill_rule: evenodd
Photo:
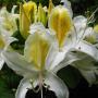
<path fill-rule="evenodd" d="M 29 25 L 36 20 L 37 5 L 29 1 L 20 5 L 20 30 L 24 38 L 27 38 Z"/>

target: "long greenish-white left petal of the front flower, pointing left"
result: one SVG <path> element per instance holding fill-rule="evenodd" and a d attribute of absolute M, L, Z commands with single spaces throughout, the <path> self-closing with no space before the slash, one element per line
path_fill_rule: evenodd
<path fill-rule="evenodd" d="M 37 75 L 37 71 L 34 65 L 28 63 L 21 54 L 13 51 L 3 51 L 2 57 L 8 66 L 15 71 L 17 74 L 26 77 Z"/>

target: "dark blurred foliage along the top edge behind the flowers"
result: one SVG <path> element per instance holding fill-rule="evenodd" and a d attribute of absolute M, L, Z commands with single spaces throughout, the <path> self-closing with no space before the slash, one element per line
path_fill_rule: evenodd
<path fill-rule="evenodd" d="M 29 1 L 29 0 L 26 0 Z M 36 3 L 41 2 L 42 5 L 48 5 L 49 0 L 32 0 Z M 60 3 L 60 0 L 52 0 L 54 5 Z M 71 1 L 72 9 L 74 15 L 91 14 L 98 8 L 98 0 L 69 0 Z M 23 2 L 23 0 L 0 0 L 0 8 L 7 5 L 9 10 L 11 10 L 13 4 L 19 4 L 19 2 Z M 98 12 L 96 13 L 96 24 L 98 23 Z"/>

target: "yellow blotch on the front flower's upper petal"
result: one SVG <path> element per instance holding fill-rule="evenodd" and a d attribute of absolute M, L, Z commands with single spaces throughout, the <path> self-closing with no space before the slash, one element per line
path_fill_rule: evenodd
<path fill-rule="evenodd" d="M 28 41 L 29 45 L 25 49 L 27 60 L 28 62 L 33 62 L 37 69 L 41 70 L 45 66 L 50 44 L 44 38 L 44 35 L 38 35 L 37 33 Z"/>

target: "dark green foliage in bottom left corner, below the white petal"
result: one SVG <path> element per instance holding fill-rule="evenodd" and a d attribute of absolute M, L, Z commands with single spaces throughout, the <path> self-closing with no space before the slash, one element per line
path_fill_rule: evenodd
<path fill-rule="evenodd" d="M 0 71 L 0 98 L 14 98 L 20 79 L 21 77 L 4 64 Z"/>

